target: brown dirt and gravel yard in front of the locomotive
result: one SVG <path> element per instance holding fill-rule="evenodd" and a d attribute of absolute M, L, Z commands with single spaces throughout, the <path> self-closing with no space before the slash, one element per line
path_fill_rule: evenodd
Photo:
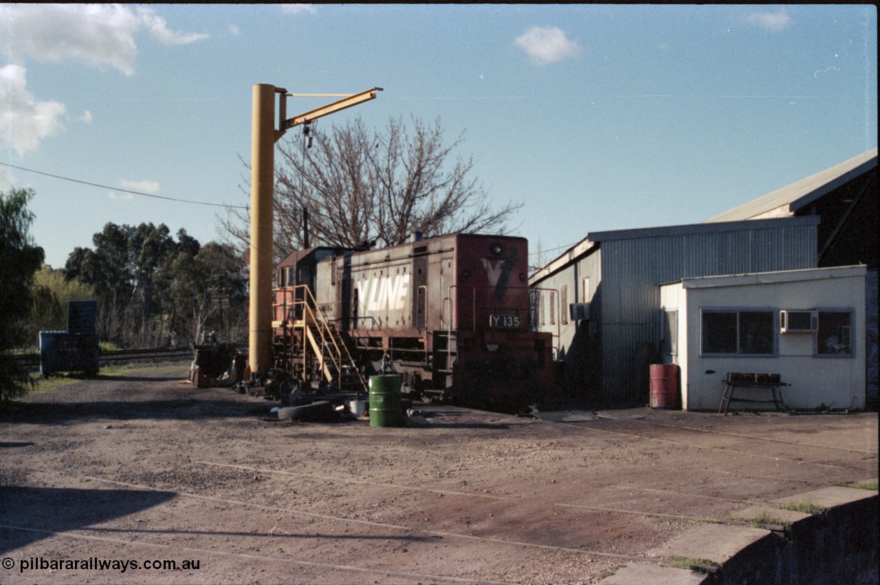
<path fill-rule="evenodd" d="M 0 582 L 595 583 L 707 520 L 877 471 L 876 413 L 424 406 L 373 428 L 270 421 L 276 403 L 186 374 L 102 375 L 0 417 Z"/>

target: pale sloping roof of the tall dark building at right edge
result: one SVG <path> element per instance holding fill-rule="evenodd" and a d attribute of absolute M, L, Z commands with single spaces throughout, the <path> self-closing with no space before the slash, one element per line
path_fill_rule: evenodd
<path fill-rule="evenodd" d="M 857 157 L 817 172 L 806 179 L 783 186 L 774 192 L 744 203 L 706 220 L 706 223 L 731 222 L 763 215 L 790 216 L 798 209 L 810 205 L 825 194 L 845 185 L 852 179 L 876 168 L 877 150 L 871 149 Z"/>

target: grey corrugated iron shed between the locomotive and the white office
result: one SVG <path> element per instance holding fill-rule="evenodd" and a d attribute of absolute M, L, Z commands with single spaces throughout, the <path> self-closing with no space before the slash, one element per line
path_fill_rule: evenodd
<path fill-rule="evenodd" d="M 818 216 L 805 216 L 590 232 L 530 279 L 541 294 L 567 287 L 568 303 L 589 302 L 590 326 L 547 319 L 542 328 L 558 334 L 567 366 L 584 360 L 571 367 L 590 369 L 572 372 L 575 384 L 583 388 L 584 380 L 597 378 L 600 387 L 585 389 L 590 396 L 619 403 L 642 399 L 647 391 L 642 362 L 656 359 L 662 338 L 658 285 L 816 267 L 818 223 Z M 579 296 L 584 279 L 590 298 Z M 598 350 L 593 358 L 584 356 L 594 351 L 589 347 Z"/>

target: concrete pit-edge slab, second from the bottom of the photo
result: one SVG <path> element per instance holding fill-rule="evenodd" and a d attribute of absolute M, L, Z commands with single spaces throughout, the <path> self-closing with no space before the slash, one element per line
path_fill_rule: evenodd
<path fill-rule="evenodd" d="M 737 552 L 768 534 L 768 530 L 758 528 L 703 524 L 700 528 L 685 532 L 664 545 L 649 550 L 647 554 L 649 557 L 709 559 L 722 565 Z"/>

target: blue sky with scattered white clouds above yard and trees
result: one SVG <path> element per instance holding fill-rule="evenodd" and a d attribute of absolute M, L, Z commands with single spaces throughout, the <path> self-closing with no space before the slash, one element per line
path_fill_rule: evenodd
<path fill-rule="evenodd" d="M 0 190 L 62 267 L 107 222 L 202 243 L 246 205 L 253 84 L 439 118 L 543 260 L 699 223 L 877 145 L 873 5 L 0 4 Z M 304 113 L 334 98 L 294 98 Z M 296 129 L 287 137 L 297 137 Z M 109 187 L 109 188 L 107 188 Z M 532 262 L 539 260 L 532 258 Z"/>

